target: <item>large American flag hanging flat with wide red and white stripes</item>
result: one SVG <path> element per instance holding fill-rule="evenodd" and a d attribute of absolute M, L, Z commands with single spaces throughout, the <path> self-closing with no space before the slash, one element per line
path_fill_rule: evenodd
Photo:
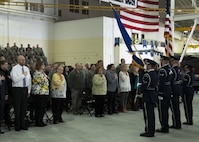
<path fill-rule="evenodd" d="M 130 4 L 135 0 L 124 0 Z M 144 10 L 145 8 L 159 8 L 159 0 L 138 0 L 137 9 L 122 9 L 120 18 L 125 28 L 141 32 L 157 32 L 159 30 L 159 12 Z"/>

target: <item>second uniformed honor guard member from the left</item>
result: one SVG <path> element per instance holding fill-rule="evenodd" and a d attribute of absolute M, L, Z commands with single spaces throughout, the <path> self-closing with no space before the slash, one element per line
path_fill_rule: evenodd
<path fill-rule="evenodd" d="M 168 133 L 168 111 L 170 106 L 170 100 L 172 97 L 171 80 L 173 76 L 171 67 L 169 65 L 169 57 L 161 55 L 161 68 L 158 71 L 158 76 L 158 111 L 161 128 L 157 129 L 156 132 Z"/>

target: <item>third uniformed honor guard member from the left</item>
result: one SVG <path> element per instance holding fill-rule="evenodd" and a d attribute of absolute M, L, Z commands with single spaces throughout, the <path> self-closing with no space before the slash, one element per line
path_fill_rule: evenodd
<path fill-rule="evenodd" d="M 172 80 L 172 92 L 173 97 L 171 99 L 171 112 L 172 112 L 172 126 L 169 128 L 181 129 L 181 118 L 180 118 L 180 102 L 179 98 L 182 96 L 182 74 L 179 67 L 179 58 L 172 56 L 170 63 L 172 66 L 173 80 Z"/>

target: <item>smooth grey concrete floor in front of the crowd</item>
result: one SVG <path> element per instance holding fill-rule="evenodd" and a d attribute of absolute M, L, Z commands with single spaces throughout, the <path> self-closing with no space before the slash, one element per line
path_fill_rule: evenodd
<path fill-rule="evenodd" d="M 199 95 L 194 98 L 194 125 L 182 125 L 181 130 L 170 130 L 168 134 L 156 133 L 154 138 L 140 137 L 144 131 L 142 111 L 105 115 L 104 118 L 88 114 L 73 115 L 64 112 L 65 123 L 30 127 L 28 131 L 6 131 L 0 142 L 194 142 L 199 139 Z M 185 121 L 181 104 L 181 119 Z M 156 128 L 160 127 L 156 109 Z M 171 120 L 171 119 L 170 119 Z M 171 123 L 170 123 L 171 124 Z M 5 129 L 6 130 L 6 129 Z"/>

